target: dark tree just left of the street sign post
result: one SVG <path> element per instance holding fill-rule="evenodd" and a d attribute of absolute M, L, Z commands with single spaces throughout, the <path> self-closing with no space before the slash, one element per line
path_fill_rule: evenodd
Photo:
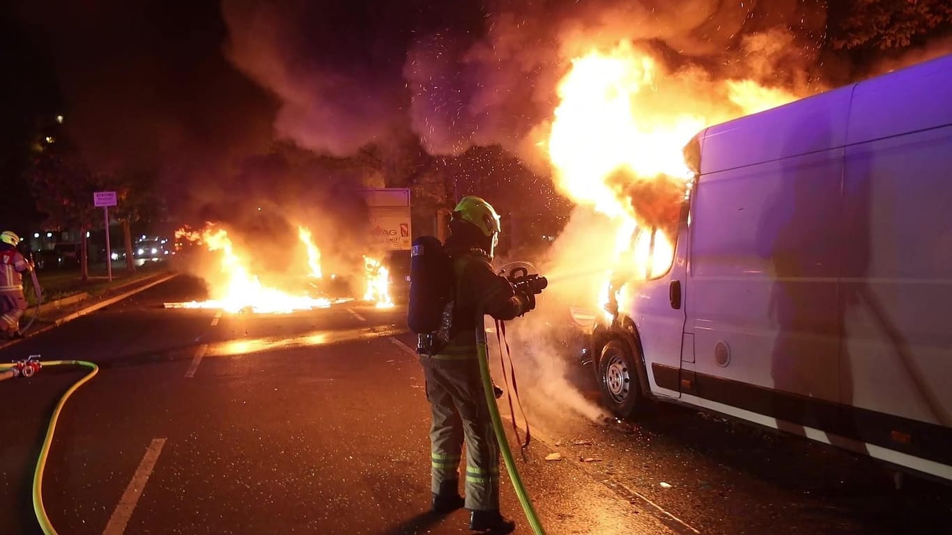
<path fill-rule="evenodd" d="M 71 149 L 44 150 L 36 154 L 27 170 L 36 198 L 36 208 L 47 215 L 50 228 L 78 228 L 80 277 L 89 279 L 89 240 L 98 211 L 92 193 L 105 177 L 94 173 L 79 153 Z"/>

